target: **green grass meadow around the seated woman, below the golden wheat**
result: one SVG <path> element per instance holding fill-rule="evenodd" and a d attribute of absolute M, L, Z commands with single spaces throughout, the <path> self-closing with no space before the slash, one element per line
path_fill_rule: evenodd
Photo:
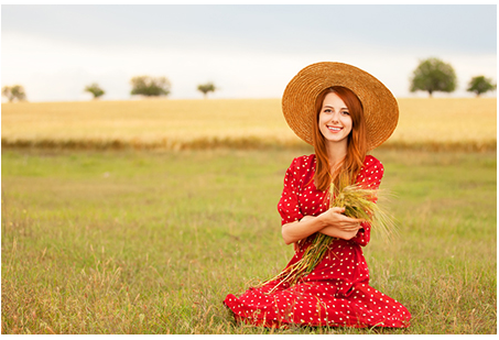
<path fill-rule="evenodd" d="M 2 333 L 270 333 L 228 293 L 292 256 L 276 204 L 310 150 L 2 151 Z M 372 234 L 371 285 L 406 330 L 497 333 L 496 153 L 380 150 L 399 238 Z"/>

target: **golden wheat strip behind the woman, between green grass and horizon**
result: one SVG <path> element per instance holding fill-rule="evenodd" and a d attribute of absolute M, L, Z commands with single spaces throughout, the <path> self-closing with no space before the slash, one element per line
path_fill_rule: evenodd
<path fill-rule="evenodd" d="M 402 98 L 386 146 L 495 149 L 497 98 Z M 280 99 L 2 103 L 2 145 L 203 147 L 304 144 Z"/>

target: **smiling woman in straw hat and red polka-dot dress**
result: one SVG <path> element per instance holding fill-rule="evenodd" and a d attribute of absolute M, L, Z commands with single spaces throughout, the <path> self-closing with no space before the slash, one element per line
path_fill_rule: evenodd
<path fill-rule="evenodd" d="M 274 279 L 224 304 L 236 320 L 281 327 L 409 327 L 411 314 L 397 300 L 369 286 L 361 246 L 370 226 L 329 207 L 328 188 L 340 175 L 377 189 L 382 164 L 367 153 L 383 143 L 399 118 L 395 99 L 368 73 L 340 63 L 317 63 L 288 85 L 282 108 L 291 129 L 315 154 L 293 160 L 279 201 L 282 237 L 294 243 L 300 261 L 317 233 L 336 238 L 315 268 L 290 285 Z"/>

